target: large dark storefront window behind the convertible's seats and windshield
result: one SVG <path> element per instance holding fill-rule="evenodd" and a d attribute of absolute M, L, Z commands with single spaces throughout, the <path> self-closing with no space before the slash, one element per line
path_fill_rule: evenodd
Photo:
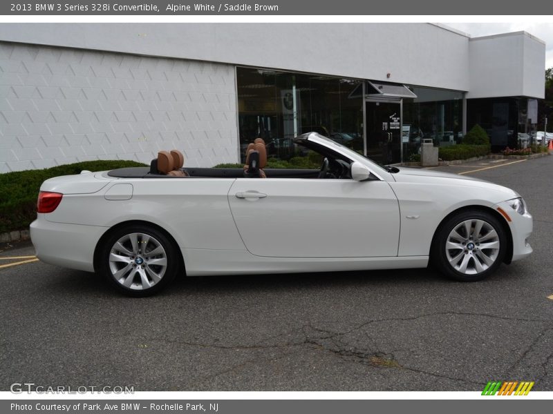
<path fill-rule="evenodd" d="M 268 156 L 297 155 L 292 139 L 315 131 L 363 151 L 361 81 L 277 70 L 236 68 L 241 156 L 261 137 Z M 244 159 L 242 159 L 244 161 Z"/>

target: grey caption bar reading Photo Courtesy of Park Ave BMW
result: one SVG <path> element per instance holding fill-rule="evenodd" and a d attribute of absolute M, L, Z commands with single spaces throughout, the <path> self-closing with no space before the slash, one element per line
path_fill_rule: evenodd
<path fill-rule="evenodd" d="M 505 414 L 547 412 L 549 401 L 495 397 L 481 400 L 17 400 L 0 401 L 1 413 L 132 414 L 336 414 L 336 413 L 480 413 L 483 406 Z M 487 400 L 487 402 L 485 402 Z M 480 408 L 480 410 L 478 409 Z M 424 411 L 422 411 L 424 410 Z M 543 410 L 543 411 L 542 411 Z M 547 410 L 547 411 L 546 411 Z"/>

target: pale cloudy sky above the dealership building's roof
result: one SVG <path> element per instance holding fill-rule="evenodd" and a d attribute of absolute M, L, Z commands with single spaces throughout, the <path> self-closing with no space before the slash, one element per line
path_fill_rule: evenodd
<path fill-rule="evenodd" d="M 553 67 L 553 23 L 444 23 L 451 28 L 470 34 L 471 37 L 488 36 L 489 34 L 520 32 L 545 41 L 545 68 Z"/>

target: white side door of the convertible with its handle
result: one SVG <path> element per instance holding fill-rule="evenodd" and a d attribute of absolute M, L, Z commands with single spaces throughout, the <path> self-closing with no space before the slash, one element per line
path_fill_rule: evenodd
<path fill-rule="evenodd" d="M 243 178 L 228 197 L 253 255 L 397 256 L 400 210 L 386 181 Z"/>

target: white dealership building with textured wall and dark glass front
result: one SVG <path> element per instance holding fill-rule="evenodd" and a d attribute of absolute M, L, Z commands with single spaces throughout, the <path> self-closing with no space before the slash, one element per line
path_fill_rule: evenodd
<path fill-rule="evenodd" d="M 315 130 L 383 162 L 536 124 L 545 43 L 431 23 L 1 23 L 0 172 L 92 159 L 274 157 Z"/>

